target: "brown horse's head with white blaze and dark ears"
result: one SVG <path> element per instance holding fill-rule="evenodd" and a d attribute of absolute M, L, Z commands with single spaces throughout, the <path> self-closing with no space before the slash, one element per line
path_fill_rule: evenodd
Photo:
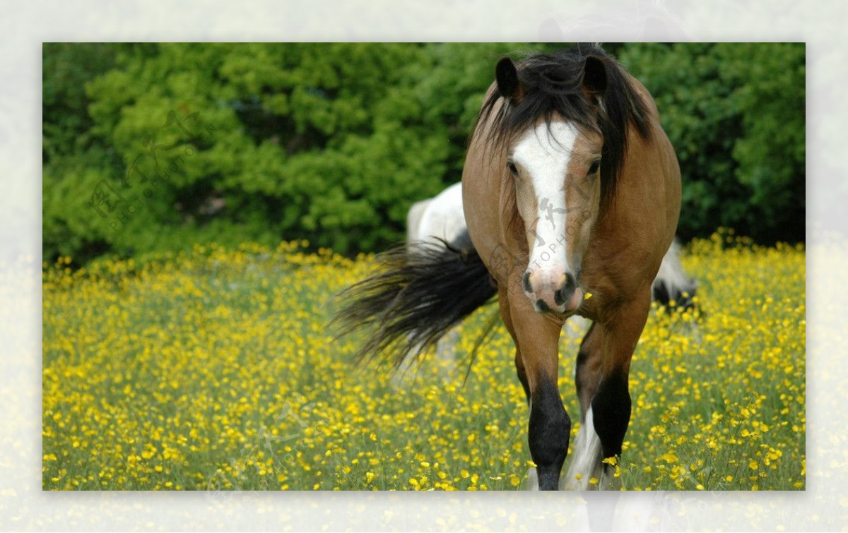
<path fill-rule="evenodd" d="M 615 193 L 633 94 L 622 70 L 592 53 L 518 68 L 504 58 L 495 80 L 505 103 L 493 131 L 529 250 L 522 286 L 537 311 L 571 313 L 583 302 L 593 229 Z"/>

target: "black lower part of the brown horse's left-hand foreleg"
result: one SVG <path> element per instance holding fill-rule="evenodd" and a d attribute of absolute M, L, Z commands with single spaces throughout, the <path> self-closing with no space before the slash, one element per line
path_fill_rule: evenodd
<path fill-rule="evenodd" d="M 530 456 L 536 464 L 539 490 L 557 489 L 571 428 L 555 380 L 543 378 L 533 391 L 529 426 Z"/>

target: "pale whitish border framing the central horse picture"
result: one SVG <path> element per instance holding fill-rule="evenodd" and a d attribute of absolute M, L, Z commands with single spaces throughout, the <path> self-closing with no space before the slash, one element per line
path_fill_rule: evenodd
<path fill-rule="evenodd" d="M 740 4 L 740 5 L 738 5 Z M 848 219 L 837 1 L 3 3 L 0 530 L 842 530 Z M 53 41 L 807 42 L 807 490 L 576 493 L 41 491 L 41 54 Z M 799 199 L 800 201 L 800 199 Z"/>

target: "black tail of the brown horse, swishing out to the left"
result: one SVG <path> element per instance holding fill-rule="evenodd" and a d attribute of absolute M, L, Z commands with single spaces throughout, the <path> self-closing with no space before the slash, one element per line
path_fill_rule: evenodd
<path fill-rule="evenodd" d="M 370 328 L 358 360 L 388 359 L 397 369 L 494 296 L 495 284 L 467 232 L 447 242 L 404 245 L 378 256 L 377 274 L 350 286 L 334 323 L 341 335 Z"/>

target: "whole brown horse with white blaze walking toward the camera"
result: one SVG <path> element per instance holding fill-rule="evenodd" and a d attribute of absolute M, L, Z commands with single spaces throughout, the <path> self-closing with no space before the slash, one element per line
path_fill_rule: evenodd
<path fill-rule="evenodd" d="M 560 484 L 571 429 L 557 387 L 562 325 L 590 319 L 575 373 L 582 423 L 563 482 L 615 486 L 605 458 L 622 452 L 630 360 L 680 211 L 678 161 L 653 99 L 593 45 L 501 59 L 462 191 L 467 236 L 389 253 L 382 272 L 349 290 L 340 318 L 349 329 L 377 325 L 360 356 L 394 353 L 399 363 L 497 293 L 544 490 Z"/>

